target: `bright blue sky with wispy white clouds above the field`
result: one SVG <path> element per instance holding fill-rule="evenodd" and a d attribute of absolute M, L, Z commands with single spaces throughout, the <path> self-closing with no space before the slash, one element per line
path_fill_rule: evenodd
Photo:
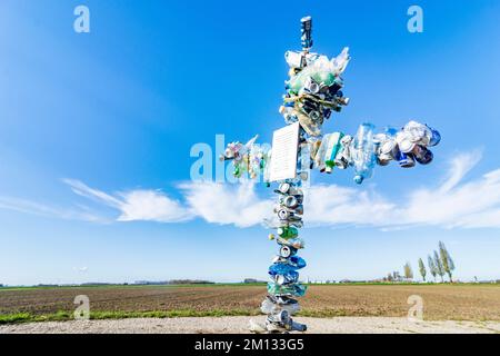
<path fill-rule="evenodd" d="M 352 56 L 351 105 L 324 132 L 417 119 L 443 140 L 431 166 L 362 187 L 314 175 L 301 276 L 416 269 L 443 240 L 459 278 L 500 278 L 498 1 L 3 0 L 0 284 L 266 278 L 271 191 L 190 182 L 190 149 L 271 140 L 306 14 L 316 51 Z"/>

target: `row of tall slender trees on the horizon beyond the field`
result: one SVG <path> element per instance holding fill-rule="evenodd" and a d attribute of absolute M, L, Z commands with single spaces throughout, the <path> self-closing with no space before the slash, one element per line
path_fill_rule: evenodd
<path fill-rule="evenodd" d="M 427 281 L 427 276 L 429 274 L 432 276 L 434 281 L 437 281 L 437 277 L 439 276 L 441 283 L 444 283 L 444 276 L 448 276 L 448 280 L 453 283 L 454 263 L 442 241 L 439 241 L 438 250 L 434 250 L 432 254 L 427 256 L 427 266 L 422 258 L 419 258 L 418 265 L 419 273 L 420 276 L 422 276 L 423 281 Z M 412 280 L 413 269 L 411 268 L 410 263 L 406 263 L 403 266 L 403 276 L 396 270 L 389 273 L 383 279 L 387 281 L 401 281 L 403 279 Z"/>

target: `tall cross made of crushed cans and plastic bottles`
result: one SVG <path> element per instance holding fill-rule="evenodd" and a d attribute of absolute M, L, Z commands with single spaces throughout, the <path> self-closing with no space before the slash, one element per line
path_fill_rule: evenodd
<path fill-rule="evenodd" d="M 306 261 L 298 254 L 304 248 L 299 229 L 303 226 L 303 188 L 309 186 L 311 170 L 331 174 L 334 169 L 352 168 L 353 180 L 360 185 L 372 177 L 376 166 L 391 161 L 402 168 L 430 164 L 433 155 L 429 147 L 440 141 L 437 130 L 414 120 L 378 132 L 372 123 L 364 122 L 352 136 L 323 135 L 322 125 L 349 105 L 342 90 L 349 48 L 331 59 L 312 52 L 310 17 L 301 20 L 301 51 L 284 55 L 290 69 L 279 111 L 286 126 L 273 132 L 272 146 L 258 145 L 256 136 L 246 144 L 229 144 L 221 156 L 221 160 L 232 161 L 236 178 L 262 178 L 269 187 L 277 184 L 273 215 L 264 224 L 276 230 L 269 238 L 276 240 L 278 251 L 269 267 L 268 295 L 261 305 L 266 323 L 250 323 L 256 333 L 307 329 L 292 316 L 300 310 L 298 298 L 307 290 L 298 273 Z"/>

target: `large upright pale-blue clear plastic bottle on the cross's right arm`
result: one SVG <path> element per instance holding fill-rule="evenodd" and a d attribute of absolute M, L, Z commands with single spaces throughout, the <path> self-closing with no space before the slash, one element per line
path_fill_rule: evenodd
<path fill-rule="evenodd" d="M 371 178 L 377 158 L 374 155 L 372 123 L 362 123 L 352 141 L 352 162 L 354 166 L 354 181 L 360 185 Z"/>

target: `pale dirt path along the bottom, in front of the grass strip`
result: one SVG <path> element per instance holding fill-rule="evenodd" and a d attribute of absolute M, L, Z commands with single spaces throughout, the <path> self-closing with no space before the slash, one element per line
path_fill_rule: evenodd
<path fill-rule="evenodd" d="M 244 334 L 250 317 L 119 319 L 0 326 L 0 334 Z M 262 322 L 261 317 L 254 318 Z M 410 322 L 392 317 L 298 318 L 312 334 L 500 333 L 499 322 Z"/>

